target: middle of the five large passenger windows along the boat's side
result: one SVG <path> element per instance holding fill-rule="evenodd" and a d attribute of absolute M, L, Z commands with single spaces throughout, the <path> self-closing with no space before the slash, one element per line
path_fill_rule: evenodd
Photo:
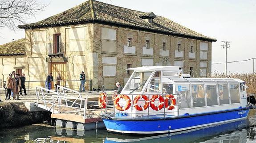
<path fill-rule="evenodd" d="M 206 85 L 207 106 L 218 105 L 216 85 Z"/>

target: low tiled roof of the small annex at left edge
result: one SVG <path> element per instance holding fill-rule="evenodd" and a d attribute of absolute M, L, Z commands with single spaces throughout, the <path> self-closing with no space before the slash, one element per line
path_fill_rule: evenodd
<path fill-rule="evenodd" d="M 0 56 L 24 55 L 25 39 L 19 39 L 4 45 L 0 45 Z"/>

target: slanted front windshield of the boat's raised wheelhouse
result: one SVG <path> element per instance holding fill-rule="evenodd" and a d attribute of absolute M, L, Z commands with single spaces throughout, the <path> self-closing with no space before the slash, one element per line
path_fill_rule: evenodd
<path fill-rule="evenodd" d="M 147 79 L 150 77 L 152 71 L 136 71 L 134 72 L 129 85 L 126 86 L 125 90 L 142 91 Z"/>

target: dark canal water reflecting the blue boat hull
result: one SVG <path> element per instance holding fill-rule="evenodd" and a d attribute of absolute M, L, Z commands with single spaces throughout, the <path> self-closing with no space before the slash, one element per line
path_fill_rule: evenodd
<path fill-rule="evenodd" d="M 77 131 L 45 124 L 0 129 L 0 143 L 256 143 L 256 110 L 248 119 L 156 136 L 116 135 L 98 129 Z"/>

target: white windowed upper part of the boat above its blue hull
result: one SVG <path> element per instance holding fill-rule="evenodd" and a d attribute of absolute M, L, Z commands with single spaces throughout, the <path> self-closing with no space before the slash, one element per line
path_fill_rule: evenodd
<path fill-rule="evenodd" d="M 248 86 L 240 79 L 190 78 L 179 66 L 143 66 L 126 70 L 134 72 L 121 95 L 130 97 L 131 105 L 124 111 L 115 109 L 115 112 L 127 113 L 125 115 L 130 117 L 183 116 L 247 106 Z M 167 99 L 167 95 L 172 97 Z M 127 99 L 121 98 L 119 104 L 127 106 Z M 134 108 L 135 105 L 141 110 Z"/>

